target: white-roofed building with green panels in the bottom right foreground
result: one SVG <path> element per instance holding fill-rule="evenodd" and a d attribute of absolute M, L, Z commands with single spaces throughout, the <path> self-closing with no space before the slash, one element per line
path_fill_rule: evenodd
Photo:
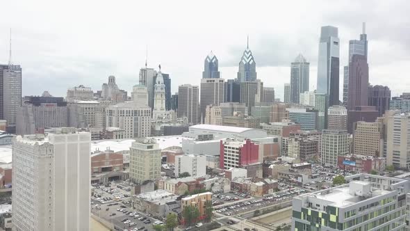
<path fill-rule="evenodd" d="M 348 184 L 295 196 L 292 230 L 407 229 L 407 179 L 361 173 L 345 180 Z"/>

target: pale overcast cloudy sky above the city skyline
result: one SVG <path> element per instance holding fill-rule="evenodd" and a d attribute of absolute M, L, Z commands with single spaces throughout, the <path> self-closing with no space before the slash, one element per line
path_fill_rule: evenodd
<path fill-rule="evenodd" d="M 369 81 L 392 96 L 410 91 L 409 1 L 5 1 L 0 20 L 0 63 L 22 66 L 23 95 L 64 96 L 67 88 L 101 90 L 108 76 L 131 93 L 147 63 L 169 73 L 172 93 L 199 85 L 212 50 L 221 77 L 233 79 L 246 48 L 257 78 L 283 99 L 290 63 L 303 54 L 316 86 L 321 26 L 338 27 L 341 93 L 348 42 L 368 34 Z M 6 10 L 5 10 L 6 9 Z M 148 49 L 147 49 L 148 47 Z"/>

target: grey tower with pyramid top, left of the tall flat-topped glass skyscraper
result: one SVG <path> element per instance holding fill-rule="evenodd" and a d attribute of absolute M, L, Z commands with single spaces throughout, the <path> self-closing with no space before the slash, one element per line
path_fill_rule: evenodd
<path fill-rule="evenodd" d="M 309 91 L 309 63 L 299 54 L 290 64 L 290 102 L 299 104 L 299 95 Z"/>

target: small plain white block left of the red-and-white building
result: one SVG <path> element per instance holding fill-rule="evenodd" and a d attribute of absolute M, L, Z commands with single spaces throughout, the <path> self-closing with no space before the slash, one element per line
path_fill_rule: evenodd
<path fill-rule="evenodd" d="M 206 156 L 184 154 L 175 157 L 175 176 L 181 173 L 189 173 L 191 177 L 206 175 Z"/>

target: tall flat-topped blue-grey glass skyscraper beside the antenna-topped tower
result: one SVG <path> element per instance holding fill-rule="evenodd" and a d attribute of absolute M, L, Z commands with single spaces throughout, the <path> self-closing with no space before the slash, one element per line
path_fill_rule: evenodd
<path fill-rule="evenodd" d="M 329 106 L 339 104 L 339 38 L 334 26 L 322 26 L 318 57 L 318 93 L 329 96 Z"/>

